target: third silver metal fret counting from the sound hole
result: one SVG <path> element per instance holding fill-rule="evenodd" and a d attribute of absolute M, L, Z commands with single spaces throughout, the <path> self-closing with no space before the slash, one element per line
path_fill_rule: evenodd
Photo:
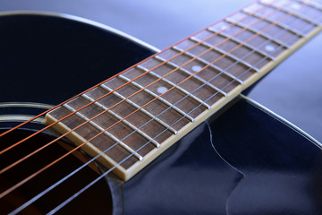
<path fill-rule="evenodd" d="M 151 119 L 155 120 L 159 125 L 164 126 L 166 129 L 168 129 L 170 132 L 174 133 L 175 135 L 178 133 L 178 131 L 174 130 L 173 127 L 171 127 L 170 125 L 167 125 L 164 121 L 162 121 L 161 119 L 159 119 L 157 116 L 152 115 L 145 108 L 140 107 L 136 103 L 132 102 L 131 99 L 127 99 L 127 98 L 123 97 L 123 95 L 121 95 L 120 93 L 118 93 L 115 90 L 112 90 L 111 88 L 107 87 L 104 84 L 101 84 L 100 87 L 103 88 L 106 91 L 112 92 L 115 96 L 117 96 L 120 99 L 123 99 L 125 102 L 127 102 L 128 104 L 130 104 L 132 107 L 135 107 L 135 108 L 139 109 L 143 114 L 145 114 L 148 117 L 150 117 Z"/>

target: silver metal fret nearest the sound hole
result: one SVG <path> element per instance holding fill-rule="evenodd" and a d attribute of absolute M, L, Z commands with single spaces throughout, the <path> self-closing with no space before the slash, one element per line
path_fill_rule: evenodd
<path fill-rule="evenodd" d="M 80 114 L 80 112 L 76 111 L 74 108 L 70 107 L 67 104 L 64 104 L 63 107 L 65 107 L 66 109 L 68 109 L 72 113 L 75 113 L 75 115 L 76 116 L 79 116 L 82 120 L 87 121 L 90 125 L 92 125 L 94 128 L 96 128 L 98 131 L 100 131 L 101 133 L 104 133 L 106 136 L 108 136 L 109 138 L 111 138 L 112 140 L 114 140 L 114 142 L 117 142 L 117 144 L 119 144 L 120 146 L 122 146 L 124 150 L 127 150 L 128 152 L 130 152 L 131 154 L 133 154 L 135 158 L 139 159 L 140 161 L 143 160 L 143 157 L 140 156 L 139 153 L 137 153 L 135 150 L 132 150 L 131 147 L 129 147 L 128 145 L 126 145 L 124 142 L 120 141 L 112 133 L 108 133 L 106 131 L 106 129 L 104 129 L 101 126 L 97 125 L 96 123 L 94 123 L 93 121 L 91 121 L 88 117 Z"/>

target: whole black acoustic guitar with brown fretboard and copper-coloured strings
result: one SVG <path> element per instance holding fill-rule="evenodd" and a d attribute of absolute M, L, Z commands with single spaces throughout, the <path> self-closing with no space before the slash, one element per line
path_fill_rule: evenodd
<path fill-rule="evenodd" d="M 0 213 L 321 214 L 322 145 L 245 96 L 321 26 L 319 1 L 260 0 L 156 51 L 3 13 Z"/>

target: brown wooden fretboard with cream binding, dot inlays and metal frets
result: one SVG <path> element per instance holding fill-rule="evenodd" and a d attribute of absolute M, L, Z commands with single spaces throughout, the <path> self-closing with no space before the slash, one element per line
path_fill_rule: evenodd
<path fill-rule="evenodd" d="M 128 180 L 321 30 L 322 4 L 248 5 L 47 114 Z"/>

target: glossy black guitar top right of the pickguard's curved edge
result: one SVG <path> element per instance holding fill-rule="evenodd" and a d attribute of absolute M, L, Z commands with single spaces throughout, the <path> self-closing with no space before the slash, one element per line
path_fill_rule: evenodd
<path fill-rule="evenodd" d="M 322 150 L 249 102 L 211 124 L 216 150 L 245 174 L 230 214 L 321 214 Z"/>

